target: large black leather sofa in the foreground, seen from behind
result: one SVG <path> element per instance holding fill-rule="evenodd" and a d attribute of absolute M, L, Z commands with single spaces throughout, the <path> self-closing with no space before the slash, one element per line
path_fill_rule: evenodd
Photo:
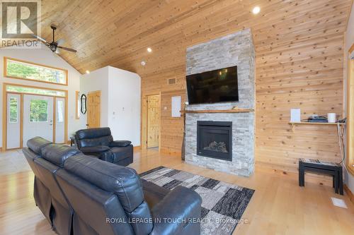
<path fill-rule="evenodd" d="M 36 137 L 23 148 L 34 197 L 57 234 L 200 234 L 201 198 L 141 180 L 134 169 Z"/>

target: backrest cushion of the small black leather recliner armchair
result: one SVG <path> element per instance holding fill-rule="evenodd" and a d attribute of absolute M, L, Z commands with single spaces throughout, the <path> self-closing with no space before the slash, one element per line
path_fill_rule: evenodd
<path fill-rule="evenodd" d="M 93 147 L 97 145 L 108 146 L 113 141 L 110 128 L 90 128 L 76 131 L 76 144 L 81 147 Z"/>

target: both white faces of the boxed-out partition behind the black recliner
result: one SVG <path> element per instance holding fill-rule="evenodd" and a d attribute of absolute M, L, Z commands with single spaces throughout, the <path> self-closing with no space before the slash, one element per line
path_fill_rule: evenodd
<path fill-rule="evenodd" d="M 101 90 L 101 126 L 110 127 L 115 140 L 140 145 L 140 77 L 137 73 L 107 66 L 84 74 L 80 94 Z M 87 115 L 81 114 L 81 128 Z"/>

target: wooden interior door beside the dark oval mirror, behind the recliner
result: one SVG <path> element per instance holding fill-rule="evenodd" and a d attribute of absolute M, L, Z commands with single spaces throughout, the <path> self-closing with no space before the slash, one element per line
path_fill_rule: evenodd
<path fill-rule="evenodd" d="M 87 95 L 87 128 L 101 127 L 101 91 Z"/>

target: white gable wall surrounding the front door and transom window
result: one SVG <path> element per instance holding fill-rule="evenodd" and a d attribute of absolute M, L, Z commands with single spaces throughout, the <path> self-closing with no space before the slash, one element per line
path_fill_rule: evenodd
<path fill-rule="evenodd" d="M 3 83 L 16 83 L 19 85 L 34 85 L 42 88 L 55 88 L 61 90 L 68 90 L 68 135 L 80 128 L 79 120 L 75 119 L 75 92 L 80 88 L 80 76 L 81 74 L 76 71 L 75 68 L 70 66 L 64 59 L 53 53 L 47 47 L 41 47 L 37 49 L 20 49 L 20 48 L 2 48 L 0 49 L 0 68 L 4 68 L 4 56 L 8 56 L 14 59 L 22 59 L 38 64 L 44 64 L 47 66 L 54 66 L 57 68 L 64 68 L 68 71 L 68 85 L 55 85 L 49 83 L 40 83 L 31 80 L 20 80 L 13 78 L 4 78 L 4 71 L 0 73 L 0 85 L 2 88 Z M 2 112 L 4 109 L 2 89 L 0 90 L 0 133 L 2 133 Z M 0 145 L 2 145 L 2 135 L 0 135 Z"/>

